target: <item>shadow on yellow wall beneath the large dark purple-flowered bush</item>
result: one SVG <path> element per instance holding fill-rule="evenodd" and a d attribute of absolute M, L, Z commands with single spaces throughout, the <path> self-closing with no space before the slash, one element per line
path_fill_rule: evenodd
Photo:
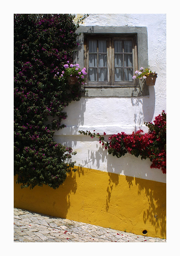
<path fill-rule="evenodd" d="M 14 206 L 42 214 L 50 217 L 66 218 L 71 206 L 70 195 L 77 190 L 76 176 L 83 175 L 81 170 L 76 173 L 69 172 L 64 183 L 58 189 L 53 189 L 48 185 L 35 186 L 33 189 L 20 188 L 16 184 L 17 176 L 14 176 Z M 52 217 L 53 218 L 53 217 Z"/>

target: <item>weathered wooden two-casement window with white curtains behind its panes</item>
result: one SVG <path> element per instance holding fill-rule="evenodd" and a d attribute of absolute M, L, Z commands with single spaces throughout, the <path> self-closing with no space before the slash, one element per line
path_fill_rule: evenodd
<path fill-rule="evenodd" d="M 84 42 L 88 86 L 136 86 L 136 36 L 86 35 Z"/>

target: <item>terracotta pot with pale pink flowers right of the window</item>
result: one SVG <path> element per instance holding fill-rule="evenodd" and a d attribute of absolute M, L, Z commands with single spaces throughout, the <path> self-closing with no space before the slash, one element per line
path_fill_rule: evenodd
<path fill-rule="evenodd" d="M 147 85 L 155 85 L 157 73 L 152 72 L 149 68 L 144 69 L 141 67 L 140 70 L 135 71 L 135 75 L 133 75 L 132 78 L 139 78 L 140 80 L 145 79 Z"/>

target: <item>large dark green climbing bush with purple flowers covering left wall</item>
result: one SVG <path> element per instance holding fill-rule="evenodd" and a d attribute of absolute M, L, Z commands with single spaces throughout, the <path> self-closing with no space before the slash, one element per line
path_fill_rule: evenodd
<path fill-rule="evenodd" d="M 79 83 L 57 77 L 77 46 L 71 14 L 14 15 L 14 175 L 21 187 L 58 188 L 75 152 L 53 141 L 64 127 L 64 107 L 79 101 Z M 83 17 L 84 19 L 85 17 Z M 81 81 L 82 82 L 82 81 Z"/>

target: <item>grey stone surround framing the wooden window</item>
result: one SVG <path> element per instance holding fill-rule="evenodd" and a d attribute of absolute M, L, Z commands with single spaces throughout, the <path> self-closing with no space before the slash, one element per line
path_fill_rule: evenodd
<path fill-rule="evenodd" d="M 74 63 L 84 67 L 84 34 L 132 34 L 137 35 L 137 56 L 138 68 L 148 67 L 148 45 L 147 45 L 147 27 L 116 27 L 116 26 L 80 26 L 77 33 L 79 47 L 74 55 Z M 149 96 L 149 89 L 145 83 L 140 81 L 139 86 L 112 86 L 112 87 L 89 87 L 86 86 L 87 92 L 82 95 L 86 97 L 142 97 Z"/>

